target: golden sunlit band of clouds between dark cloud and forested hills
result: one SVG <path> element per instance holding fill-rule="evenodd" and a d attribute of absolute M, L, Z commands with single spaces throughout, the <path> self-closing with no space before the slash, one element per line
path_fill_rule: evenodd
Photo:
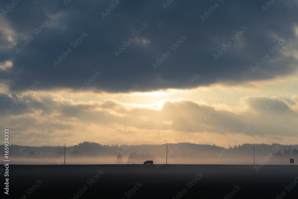
<path fill-rule="evenodd" d="M 251 125 L 252 129 L 237 145 L 256 142 L 255 139 L 270 144 L 279 142 L 282 136 L 288 136 L 291 138 L 290 143 L 294 143 L 297 138 L 294 136 L 296 126 L 293 124 L 298 124 L 298 118 L 294 115 L 298 104 L 297 87 L 293 86 L 283 92 L 285 100 L 279 100 L 272 109 L 264 109 L 268 100 L 273 99 L 272 94 L 282 91 L 282 87 L 291 78 L 289 76 L 275 81 L 252 82 L 255 86 L 250 87 L 239 85 L 231 96 L 228 94 L 232 90 L 231 86 L 221 84 L 153 92 L 108 93 L 86 90 L 74 100 L 71 97 L 75 92 L 70 89 L 34 90 L 30 95 L 24 96 L 22 106 L 15 107 L 14 112 L 2 120 L 1 124 L 18 124 L 15 125 L 18 139 L 12 139 L 15 139 L 15 144 L 21 144 L 46 119 L 51 118 L 53 122 L 38 137 L 37 146 L 49 142 L 55 145 L 64 142 L 68 136 L 80 137 L 84 131 L 92 133 L 88 138 L 90 141 L 126 144 L 146 122 L 150 122 L 152 126 L 135 144 L 175 142 L 188 134 L 192 143 L 225 146 L 245 124 Z M 10 99 L 16 99 L 14 96 L 19 95 L 18 92 L 10 92 L 4 88 L 2 94 L 5 93 Z M 268 88 L 265 93 L 263 88 Z M 3 109 L 5 108 L 8 107 Z M 205 120 L 204 115 L 208 115 L 212 109 L 215 112 Z M 280 114 L 285 112 L 288 115 L 284 115 L 281 120 Z M 16 113 L 18 114 L 15 115 Z M 260 120 L 262 123 L 259 123 Z M 28 121 L 31 123 L 29 126 L 25 125 Z M 280 131 L 281 123 L 286 125 L 283 131 Z M 61 132 L 62 136 L 59 135 Z M 71 145 L 74 141 L 75 139 L 70 139 L 68 144 Z"/>

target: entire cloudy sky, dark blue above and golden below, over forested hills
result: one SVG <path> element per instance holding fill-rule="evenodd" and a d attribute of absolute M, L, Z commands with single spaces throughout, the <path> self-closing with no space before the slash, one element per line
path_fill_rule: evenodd
<path fill-rule="evenodd" d="M 297 144 L 297 5 L 1 1 L 1 129 L 30 146 Z"/>

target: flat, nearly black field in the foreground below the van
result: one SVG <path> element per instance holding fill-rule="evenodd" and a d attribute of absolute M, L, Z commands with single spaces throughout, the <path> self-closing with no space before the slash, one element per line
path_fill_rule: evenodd
<path fill-rule="evenodd" d="M 100 175 L 97 170 L 102 171 L 100 177 L 96 176 Z M 197 173 L 201 174 L 201 178 Z M 279 198 L 297 198 L 298 185 L 294 186 L 296 175 L 297 166 L 273 165 L 263 166 L 258 172 L 252 165 L 169 164 L 162 165 L 159 169 L 155 164 L 10 165 L 9 196 L 3 195 L 4 198 L 22 198 L 23 195 L 27 198 L 65 199 L 180 198 L 177 193 L 180 192 L 183 194 L 181 198 L 274 199 L 277 195 L 280 195 Z M 195 180 L 195 177 L 199 180 Z M 90 178 L 93 178 L 93 182 Z M 37 182 L 39 179 L 42 181 L 40 184 Z M 298 177 L 296 181 L 298 182 Z M 2 193 L 3 183 L 2 172 Z M 35 184 L 39 185 L 36 189 Z M 83 190 L 84 186 L 86 190 Z M 235 188 L 237 186 L 239 190 Z M 80 194 L 79 189 L 83 194 Z M 78 192 L 80 197 L 74 195 Z M 233 196 L 226 196 L 230 192 Z M 282 192 L 285 196 L 281 195 Z"/>

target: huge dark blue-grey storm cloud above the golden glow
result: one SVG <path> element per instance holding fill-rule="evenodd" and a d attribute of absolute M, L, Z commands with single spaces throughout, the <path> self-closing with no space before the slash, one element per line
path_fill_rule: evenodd
<path fill-rule="evenodd" d="M 114 1 L 73 0 L 67 6 L 63 1 L 19 1 L 3 16 L 15 32 L 16 45 L 0 49 L 0 62 L 13 62 L 12 70 L 1 73 L 1 80 L 11 80 L 11 90 L 24 90 L 36 79 L 41 81 L 37 90 L 79 89 L 99 71 L 101 76 L 90 84 L 93 89 L 127 92 L 137 83 L 138 91 L 146 91 L 182 88 L 193 73 L 201 75 L 195 86 L 268 79 L 290 73 L 296 61 L 283 57 L 281 48 L 274 54 L 269 52 L 279 38 L 286 40 L 283 46 L 295 40 L 293 27 L 298 13 L 292 1 L 274 1 L 265 12 L 261 8 L 265 1 L 173 1 L 166 9 L 162 5 L 165 0 L 119 2 L 103 19 L 101 13 Z M 10 3 L 1 1 L 0 8 L 6 9 Z M 200 16 L 215 3 L 219 6 L 203 22 Z M 33 30 L 44 20 L 50 23 L 35 35 Z M 134 39 L 132 33 L 143 23 L 149 26 Z M 242 36 L 231 38 L 245 26 L 248 29 Z M 82 33 L 82 42 L 71 45 Z M 17 54 L 15 48 L 30 35 L 34 39 Z M 184 35 L 185 41 L 172 51 L 170 46 Z M 129 38 L 133 43 L 116 57 L 114 51 Z M 3 31 L 0 39 L 7 42 Z M 215 60 L 213 54 L 229 41 L 232 46 Z M 55 67 L 53 61 L 68 48 L 72 51 Z M 154 70 L 152 64 L 167 51 L 171 54 Z M 271 56 L 268 60 L 278 61 L 266 61 L 253 73 L 251 67 L 266 53 Z"/>

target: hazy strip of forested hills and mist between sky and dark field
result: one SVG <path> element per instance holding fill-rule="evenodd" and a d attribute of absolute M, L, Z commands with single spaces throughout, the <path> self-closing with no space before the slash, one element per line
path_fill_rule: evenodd
<path fill-rule="evenodd" d="M 101 145 L 83 142 L 67 146 L 66 164 L 242 164 L 289 165 L 298 161 L 298 145 L 243 144 L 224 148 L 207 144 L 176 143 L 164 145 Z M 252 148 L 255 148 L 255 150 Z M 167 151 L 166 151 L 167 150 Z M 64 146 L 11 145 L 11 164 L 64 164 Z M 166 152 L 168 157 L 166 159 Z M 263 162 L 262 162 L 263 161 Z"/>

